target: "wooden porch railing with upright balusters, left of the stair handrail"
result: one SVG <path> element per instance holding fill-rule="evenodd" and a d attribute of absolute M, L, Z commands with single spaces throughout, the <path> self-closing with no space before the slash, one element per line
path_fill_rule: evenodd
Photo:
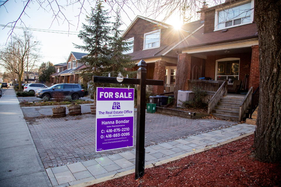
<path fill-rule="evenodd" d="M 192 90 L 193 86 L 195 86 L 202 91 L 215 93 L 223 84 L 223 82 L 224 81 L 188 80 L 187 89 Z"/>

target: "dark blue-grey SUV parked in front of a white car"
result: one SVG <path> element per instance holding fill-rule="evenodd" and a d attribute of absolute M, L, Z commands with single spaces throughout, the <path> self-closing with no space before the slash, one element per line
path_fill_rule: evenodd
<path fill-rule="evenodd" d="M 64 96 L 71 96 L 73 100 L 84 97 L 85 95 L 80 84 L 55 84 L 46 89 L 36 90 L 35 96 L 39 98 L 47 96 L 50 99 L 53 98 L 53 94 L 56 92 L 61 92 Z"/>

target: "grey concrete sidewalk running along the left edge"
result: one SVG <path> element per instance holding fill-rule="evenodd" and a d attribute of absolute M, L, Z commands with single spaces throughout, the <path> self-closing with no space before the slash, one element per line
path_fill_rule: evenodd
<path fill-rule="evenodd" d="M 0 98 L 0 186 L 52 186 L 13 88 Z"/>

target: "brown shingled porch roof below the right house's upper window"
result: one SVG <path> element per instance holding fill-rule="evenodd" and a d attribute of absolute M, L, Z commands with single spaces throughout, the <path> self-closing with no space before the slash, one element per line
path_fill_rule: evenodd
<path fill-rule="evenodd" d="M 204 33 L 204 27 L 202 27 L 192 36 L 176 46 L 174 50 L 258 37 L 256 23 L 232 27 L 227 29 L 226 32 L 222 31 L 225 30 Z"/>

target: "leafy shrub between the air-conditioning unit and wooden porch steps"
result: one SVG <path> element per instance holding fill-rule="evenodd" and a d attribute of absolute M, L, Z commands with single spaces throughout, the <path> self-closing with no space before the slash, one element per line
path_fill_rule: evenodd
<path fill-rule="evenodd" d="M 183 105 L 186 108 L 205 108 L 207 103 L 204 103 L 202 99 L 206 95 L 206 91 L 201 91 L 201 89 L 195 86 L 192 88 L 192 91 L 194 93 L 194 98 L 191 101 L 184 101 Z"/>

